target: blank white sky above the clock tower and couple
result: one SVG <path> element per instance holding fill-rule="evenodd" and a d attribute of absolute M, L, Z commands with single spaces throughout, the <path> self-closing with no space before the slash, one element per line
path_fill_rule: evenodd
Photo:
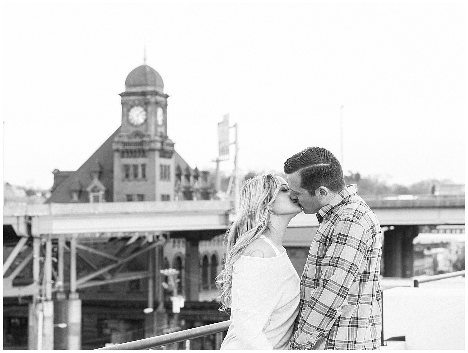
<path fill-rule="evenodd" d="M 217 123 L 239 124 L 240 166 L 282 170 L 311 145 L 390 182 L 464 182 L 462 4 L 50 4 L 4 8 L 4 180 L 49 188 L 121 122 L 143 63 L 168 135 L 214 168 Z M 221 168 L 232 168 L 232 160 Z"/>

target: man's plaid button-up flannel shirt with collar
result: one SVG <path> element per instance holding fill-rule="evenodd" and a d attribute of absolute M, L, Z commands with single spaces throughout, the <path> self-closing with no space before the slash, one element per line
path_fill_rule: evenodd
<path fill-rule="evenodd" d="M 380 349 L 382 234 L 348 185 L 317 213 L 289 349 Z"/>

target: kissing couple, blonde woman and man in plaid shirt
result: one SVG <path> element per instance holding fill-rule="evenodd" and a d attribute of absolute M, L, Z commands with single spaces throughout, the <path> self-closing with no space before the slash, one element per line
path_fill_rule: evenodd
<path fill-rule="evenodd" d="M 288 158 L 284 172 L 287 181 L 267 173 L 241 188 L 217 277 L 232 320 L 221 349 L 380 349 L 377 217 L 322 147 Z M 299 278 L 283 239 L 301 211 L 319 228 Z"/>

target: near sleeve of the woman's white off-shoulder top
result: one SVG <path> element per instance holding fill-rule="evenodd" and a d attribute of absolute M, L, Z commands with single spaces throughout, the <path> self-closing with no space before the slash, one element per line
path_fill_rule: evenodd
<path fill-rule="evenodd" d="M 270 322 L 278 303 L 278 290 L 275 290 L 274 277 L 266 265 L 247 260 L 233 273 L 234 335 L 244 349 L 273 349 L 263 329 Z"/>

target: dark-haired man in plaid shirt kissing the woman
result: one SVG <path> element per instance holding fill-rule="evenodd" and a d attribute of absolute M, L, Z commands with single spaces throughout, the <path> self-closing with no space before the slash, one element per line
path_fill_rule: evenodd
<path fill-rule="evenodd" d="M 300 281 L 290 349 L 379 349 L 380 258 L 377 217 L 346 186 L 330 151 L 308 147 L 285 161 L 291 199 L 316 213 L 319 229 Z"/>

